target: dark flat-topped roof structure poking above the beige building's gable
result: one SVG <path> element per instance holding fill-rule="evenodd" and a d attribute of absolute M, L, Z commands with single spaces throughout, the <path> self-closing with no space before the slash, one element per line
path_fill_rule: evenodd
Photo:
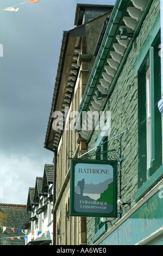
<path fill-rule="evenodd" d="M 83 23 L 89 22 L 97 17 L 108 13 L 114 8 L 114 5 L 101 4 L 77 4 L 74 25 L 80 26 Z"/>

